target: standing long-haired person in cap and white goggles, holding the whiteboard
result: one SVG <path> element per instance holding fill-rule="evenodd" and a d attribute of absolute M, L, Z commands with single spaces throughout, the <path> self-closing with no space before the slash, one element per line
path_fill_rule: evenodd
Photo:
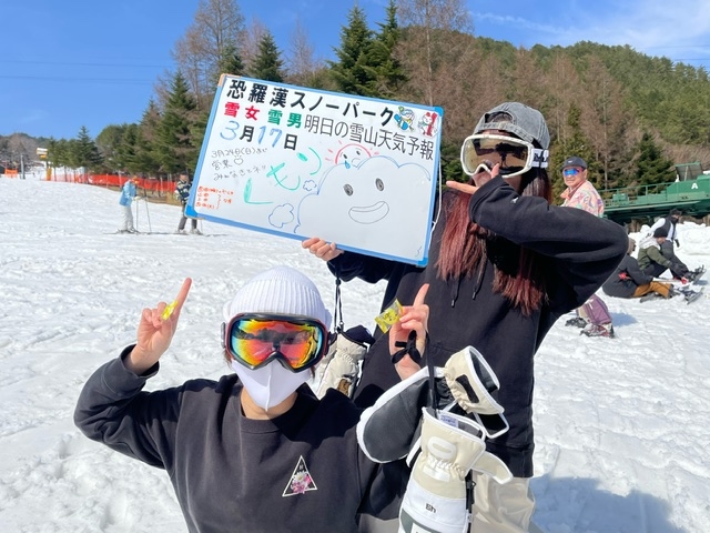
<path fill-rule="evenodd" d="M 510 429 L 486 446 L 515 477 L 505 485 L 476 481 L 473 512 L 474 522 L 503 524 L 500 531 L 528 531 L 535 506 L 528 492 L 535 353 L 552 324 L 584 304 L 627 250 L 619 224 L 551 204 L 549 141 L 542 114 L 523 103 L 503 103 L 480 118 L 462 147 L 469 181 L 447 182 L 424 268 L 344 252 L 317 237 L 302 243 L 343 281 L 387 280 L 383 310 L 395 300 L 413 301 L 428 283 L 427 359 L 444 366 L 470 345 L 493 368 Z M 398 382 L 388 354 L 387 334 L 379 334 L 363 363 L 358 405 L 372 405 Z M 493 503 L 503 500 L 510 505 Z"/>

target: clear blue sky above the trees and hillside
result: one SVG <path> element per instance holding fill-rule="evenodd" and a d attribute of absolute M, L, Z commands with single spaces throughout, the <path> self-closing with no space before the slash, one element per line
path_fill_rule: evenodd
<path fill-rule="evenodd" d="M 296 19 L 321 58 L 333 59 L 355 0 L 241 1 L 288 48 Z M 357 0 L 371 28 L 387 0 Z M 3 1 L 0 7 L 0 134 L 91 137 L 138 122 L 159 76 L 174 70 L 171 50 L 192 23 L 197 0 Z M 710 69 L 708 0 L 467 0 L 475 34 L 530 48 L 581 40 L 629 44 Z"/>

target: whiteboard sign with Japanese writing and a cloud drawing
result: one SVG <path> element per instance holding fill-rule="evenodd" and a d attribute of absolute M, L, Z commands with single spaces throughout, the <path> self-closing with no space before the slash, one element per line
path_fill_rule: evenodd
<path fill-rule="evenodd" d="M 187 214 L 424 265 L 442 115 L 222 76 Z"/>

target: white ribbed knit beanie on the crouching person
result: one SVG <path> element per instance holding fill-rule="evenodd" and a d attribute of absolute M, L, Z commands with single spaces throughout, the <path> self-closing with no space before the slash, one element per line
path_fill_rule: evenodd
<path fill-rule="evenodd" d="M 241 313 L 300 314 L 331 326 L 331 313 L 315 283 L 290 266 L 275 266 L 244 283 L 224 304 L 224 320 Z"/>

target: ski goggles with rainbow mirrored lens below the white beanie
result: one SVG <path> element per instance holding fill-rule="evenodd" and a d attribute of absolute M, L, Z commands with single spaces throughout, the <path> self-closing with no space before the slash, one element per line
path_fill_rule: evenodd
<path fill-rule="evenodd" d="M 222 339 L 227 353 L 252 370 L 277 359 L 292 372 L 302 372 L 321 361 L 328 348 L 322 322 L 288 314 L 237 314 L 222 323 Z"/>

